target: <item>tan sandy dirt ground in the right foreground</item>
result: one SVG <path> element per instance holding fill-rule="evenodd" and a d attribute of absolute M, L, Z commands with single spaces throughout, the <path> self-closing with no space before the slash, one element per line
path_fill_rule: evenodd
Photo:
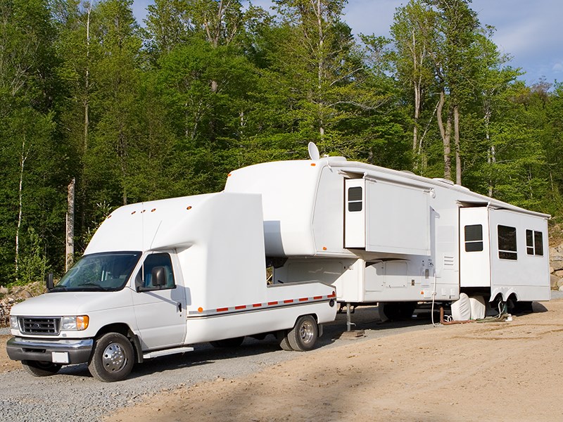
<path fill-rule="evenodd" d="M 537 310 L 349 340 L 245 378 L 165 391 L 108 420 L 563 421 L 563 300 Z"/>

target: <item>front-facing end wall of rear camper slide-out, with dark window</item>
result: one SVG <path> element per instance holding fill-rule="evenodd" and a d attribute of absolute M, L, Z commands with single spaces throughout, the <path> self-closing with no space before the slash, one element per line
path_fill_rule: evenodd
<path fill-rule="evenodd" d="M 487 207 L 460 208 L 460 286 L 491 286 Z"/>

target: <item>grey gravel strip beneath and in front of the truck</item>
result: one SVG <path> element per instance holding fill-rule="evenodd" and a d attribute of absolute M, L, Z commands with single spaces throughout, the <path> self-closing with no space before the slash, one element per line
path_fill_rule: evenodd
<path fill-rule="evenodd" d="M 552 292 L 563 298 L 563 292 Z M 346 330 L 346 315 L 326 324 L 317 350 L 381 338 L 405 331 L 432 329 L 429 312 L 404 323 L 380 324 L 376 309 L 359 308 L 353 314 L 357 328 L 365 336 L 355 340 L 341 338 Z M 0 334 L 8 334 L 0 328 Z M 311 354 L 317 352 L 312 350 Z M 245 376 L 265 366 L 293 359 L 297 352 L 279 350 L 272 336 L 257 341 L 247 338 L 236 349 L 215 349 L 198 345 L 194 352 L 160 357 L 135 366 L 132 374 L 119 383 L 94 380 L 86 365 L 65 366 L 56 376 L 35 378 L 24 371 L 0 374 L 0 420 L 20 421 L 99 421 L 111 411 L 141 402 L 163 390 L 175 390 L 205 381 Z"/>

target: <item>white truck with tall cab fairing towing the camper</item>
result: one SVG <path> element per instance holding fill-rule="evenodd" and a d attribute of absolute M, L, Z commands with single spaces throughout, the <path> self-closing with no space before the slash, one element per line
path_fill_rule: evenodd
<path fill-rule="evenodd" d="M 336 316 L 333 286 L 268 284 L 260 195 L 210 193 L 118 208 L 49 293 L 12 308 L 8 356 L 34 376 L 87 363 L 119 381 L 135 362 L 277 335 L 310 350 Z"/>

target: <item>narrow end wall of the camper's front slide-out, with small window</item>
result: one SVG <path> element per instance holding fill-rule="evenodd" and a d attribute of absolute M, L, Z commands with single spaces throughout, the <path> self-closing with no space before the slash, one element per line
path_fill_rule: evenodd
<path fill-rule="evenodd" d="M 365 180 L 346 179 L 344 248 L 365 249 Z"/>

